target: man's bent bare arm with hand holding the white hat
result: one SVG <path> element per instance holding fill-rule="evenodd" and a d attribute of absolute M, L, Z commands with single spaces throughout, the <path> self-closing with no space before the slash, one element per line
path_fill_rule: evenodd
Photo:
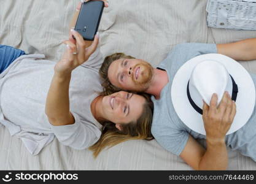
<path fill-rule="evenodd" d="M 235 102 L 228 94 L 223 96 L 217 108 L 217 96 L 213 95 L 210 107 L 204 103 L 203 120 L 206 129 L 206 150 L 193 139 L 188 137 L 180 158 L 195 170 L 225 170 L 228 165 L 228 154 L 225 145 L 225 135 L 230 129 L 236 113 Z"/>

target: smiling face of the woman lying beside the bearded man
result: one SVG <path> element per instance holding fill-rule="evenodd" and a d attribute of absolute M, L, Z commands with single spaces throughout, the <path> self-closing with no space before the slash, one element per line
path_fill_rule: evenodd
<path fill-rule="evenodd" d="M 103 109 L 105 118 L 120 125 L 136 121 L 142 114 L 144 103 L 144 97 L 125 91 L 104 96 Z"/>

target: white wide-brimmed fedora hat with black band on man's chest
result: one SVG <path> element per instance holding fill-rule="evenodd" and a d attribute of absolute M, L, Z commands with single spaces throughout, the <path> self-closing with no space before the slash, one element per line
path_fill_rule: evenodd
<path fill-rule="evenodd" d="M 227 132 L 244 126 L 255 106 L 255 86 L 250 74 L 234 59 L 220 54 L 196 56 L 183 64 L 174 76 L 171 99 L 180 120 L 188 128 L 205 135 L 203 100 L 209 105 L 213 93 L 218 105 L 228 91 L 236 102 L 236 116 Z"/>

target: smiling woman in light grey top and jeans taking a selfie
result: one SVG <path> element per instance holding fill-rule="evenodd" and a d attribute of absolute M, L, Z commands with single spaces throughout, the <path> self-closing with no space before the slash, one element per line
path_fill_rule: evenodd
<path fill-rule="evenodd" d="M 33 155 L 54 137 L 76 149 L 96 143 L 91 147 L 95 156 L 125 140 L 152 138 L 151 102 L 122 91 L 98 95 L 102 90 L 98 36 L 87 47 L 82 36 L 71 31 L 64 43 L 68 47 L 58 63 L 23 52 L 17 59 L 8 59 L 11 52 L 20 50 L 1 46 L 7 51 L 0 52 L 1 62 L 7 65 L 0 74 L 0 122 L 10 134 L 20 137 Z"/>

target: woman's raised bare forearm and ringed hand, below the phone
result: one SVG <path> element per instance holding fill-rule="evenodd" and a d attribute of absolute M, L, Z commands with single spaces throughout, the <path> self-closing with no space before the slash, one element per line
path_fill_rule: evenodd
<path fill-rule="evenodd" d="M 64 41 L 67 48 L 60 61 L 55 65 L 45 105 L 45 113 L 48 120 L 55 126 L 71 125 L 75 122 L 72 113 L 69 111 L 71 73 L 73 69 L 87 61 L 90 55 L 95 52 L 99 42 L 99 38 L 96 35 L 93 44 L 87 48 L 83 37 L 74 30 L 71 32 L 71 35 L 76 38 L 76 44 L 70 40 Z"/>

